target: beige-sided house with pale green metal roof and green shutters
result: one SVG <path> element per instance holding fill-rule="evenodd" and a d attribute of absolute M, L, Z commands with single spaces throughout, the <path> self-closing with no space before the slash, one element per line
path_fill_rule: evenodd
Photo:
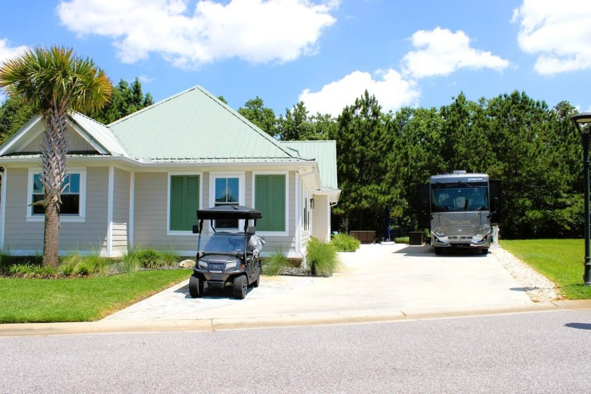
<path fill-rule="evenodd" d="M 34 117 L 0 146 L 0 248 L 13 254 L 43 248 L 43 208 L 31 205 L 43 193 L 43 132 Z M 110 125 L 74 113 L 68 141 L 61 254 L 172 246 L 191 256 L 196 210 L 227 204 L 263 212 L 257 233 L 267 253 L 303 258 L 310 236 L 330 239 L 341 193 L 335 141 L 276 141 L 202 87 Z"/>

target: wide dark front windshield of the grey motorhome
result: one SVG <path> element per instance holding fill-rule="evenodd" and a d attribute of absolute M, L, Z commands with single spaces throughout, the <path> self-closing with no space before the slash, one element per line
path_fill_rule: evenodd
<path fill-rule="evenodd" d="M 488 210 L 488 188 L 468 184 L 431 184 L 431 212 Z"/>

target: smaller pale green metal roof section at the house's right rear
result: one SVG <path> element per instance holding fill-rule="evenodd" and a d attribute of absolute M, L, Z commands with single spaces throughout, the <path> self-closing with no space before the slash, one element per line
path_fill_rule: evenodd
<path fill-rule="evenodd" d="M 322 179 L 322 187 L 338 189 L 336 182 L 336 141 L 281 141 L 300 158 L 316 160 Z"/>

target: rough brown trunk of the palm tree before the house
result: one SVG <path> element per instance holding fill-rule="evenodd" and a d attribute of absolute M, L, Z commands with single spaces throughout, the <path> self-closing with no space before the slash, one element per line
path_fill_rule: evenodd
<path fill-rule="evenodd" d="M 43 265 L 58 267 L 58 240 L 61 205 L 61 191 L 65 177 L 65 153 L 68 151 L 65 139 L 67 113 L 53 108 L 46 114 L 45 133 L 41 146 L 42 174 L 44 188 L 45 227 L 43 239 Z"/>

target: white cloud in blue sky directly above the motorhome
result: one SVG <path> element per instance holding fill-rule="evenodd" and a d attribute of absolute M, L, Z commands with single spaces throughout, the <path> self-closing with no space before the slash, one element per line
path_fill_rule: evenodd
<path fill-rule="evenodd" d="M 412 44 L 417 51 L 405 55 L 402 71 L 414 78 L 447 76 L 460 68 L 503 70 L 509 67 L 509 61 L 471 48 L 470 37 L 462 30 L 455 33 L 440 27 L 419 30 L 412 34 Z"/>

